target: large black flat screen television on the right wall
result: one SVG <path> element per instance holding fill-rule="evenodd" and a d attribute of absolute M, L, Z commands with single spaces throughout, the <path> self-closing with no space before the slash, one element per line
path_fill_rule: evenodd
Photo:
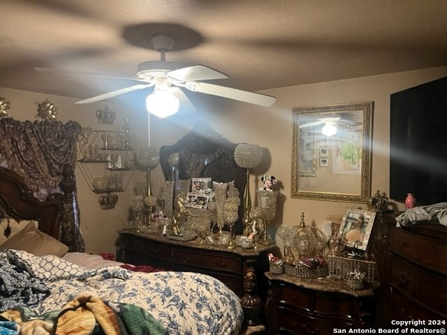
<path fill-rule="evenodd" d="M 390 195 L 447 202 L 447 77 L 390 95 Z"/>

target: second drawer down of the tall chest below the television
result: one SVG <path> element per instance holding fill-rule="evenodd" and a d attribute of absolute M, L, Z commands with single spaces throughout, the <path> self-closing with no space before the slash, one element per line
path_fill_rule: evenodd
<path fill-rule="evenodd" d="M 447 315 L 447 278 L 390 255 L 390 285 L 409 298 Z M 425 288 L 430 288 L 429 290 Z"/>

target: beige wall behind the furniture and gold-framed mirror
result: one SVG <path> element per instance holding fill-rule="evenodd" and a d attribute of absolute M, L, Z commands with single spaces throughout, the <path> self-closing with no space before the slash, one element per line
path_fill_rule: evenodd
<path fill-rule="evenodd" d="M 301 212 L 304 212 L 307 225 L 315 224 L 324 228 L 328 214 L 342 215 L 347 207 L 365 207 L 365 204 L 291 198 L 292 108 L 374 101 L 371 190 L 372 193 L 377 190 L 388 193 L 390 94 L 445 75 L 447 67 L 270 89 L 263 92 L 277 97 L 277 103 L 270 108 L 201 96 L 200 101 L 194 101 L 198 107 L 198 112 L 195 114 L 165 120 L 152 117 L 151 144 L 160 147 L 163 144 L 175 143 L 190 131 L 198 119 L 207 121 L 217 133 L 221 133 L 232 142 L 259 144 L 264 149 L 264 160 L 251 174 L 253 201 L 255 189 L 261 186 L 260 176 L 268 172 L 277 178 L 281 187 L 281 202 L 274 225 L 296 225 L 300 221 Z M 11 101 L 11 114 L 20 120 L 33 120 L 36 114 L 34 101 L 43 101 L 45 98 L 50 98 L 50 101 L 59 107 L 59 121 L 72 119 L 79 121 L 82 126 L 120 130 L 121 120 L 129 117 L 135 126 L 134 134 L 138 135 L 138 139 L 134 140 L 134 147 L 147 145 L 147 118 L 144 110 L 136 110 L 135 107 L 129 110 L 128 106 L 108 103 L 110 109 L 115 110 L 118 116 L 112 126 L 104 126 L 98 124 L 95 112 L 98 108 L 103 108 L 105 103 L 73 105 L 74 100 L 71 98 L 1 88 L 0 95 Z M 96 253 L 114 252 L 120 220 L 129 214 L 129 199 L 133 195 L 133 188 L 129 186 L 126 192 L 118 193 L 119 202 L 115 209 L 101 210 L 97 203 L 98 195 L 87 188 L 79 171 L 76 176 L 82 232 L 87 250 Z M 159 165 L 154 168 L 151 177 L 152 189 L 154 193 L 158 193 L 163 180 Z M 144 179 L 145 174 L 142 171 L 133 175 L 133 182 Z M 398 209 L 403 209 L 401 203 L 396 206 Z M 277 244 L 282 247 L 279 239 Z"/>

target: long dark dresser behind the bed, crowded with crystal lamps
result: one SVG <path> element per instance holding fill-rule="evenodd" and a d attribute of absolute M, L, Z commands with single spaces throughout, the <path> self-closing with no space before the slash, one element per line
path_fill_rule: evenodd
<path fill-rule="evenodd" d="M 122 230 L 117 259 L 133 265 L 151 265 L 174 271 L 208 274 L 225 283 L 239 297 L 244 292 L 244 276 L 254 268 L 258 292 L 267 291 L 264 272 L 268 271 L 269 248 L 228 249 L 200 244 L 198 241 L 175 241 L 159 234 L 142 234 Z"/>

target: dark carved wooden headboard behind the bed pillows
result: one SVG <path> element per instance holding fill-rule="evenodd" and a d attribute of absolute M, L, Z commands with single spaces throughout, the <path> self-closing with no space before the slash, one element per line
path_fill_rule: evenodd
<path fill-rule="evenodd" d="M 0 217 L 8 216 L 16 221 L 38 221 L 39 230 L 58 239 L 61 215 L 58 201 L 55 198 L 45 202 L 37 200 L 18 174 L 0 168 Z"/>

